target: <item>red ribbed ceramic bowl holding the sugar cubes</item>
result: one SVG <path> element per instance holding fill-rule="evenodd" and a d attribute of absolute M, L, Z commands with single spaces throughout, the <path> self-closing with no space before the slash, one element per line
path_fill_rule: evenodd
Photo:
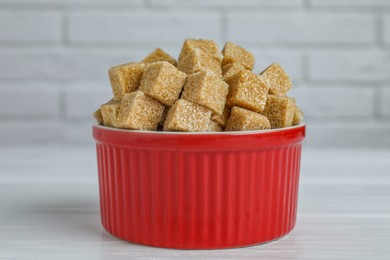
<path fill-rule="evenodd" d="M 259 244 L 296 221 L 305 125 L 174 133 L 93 126 L 101 219 L 112 235 L 181 249 Z"/>

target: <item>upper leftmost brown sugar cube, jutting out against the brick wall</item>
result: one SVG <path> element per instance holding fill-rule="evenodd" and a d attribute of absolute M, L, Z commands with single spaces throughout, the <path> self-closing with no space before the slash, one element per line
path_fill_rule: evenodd
<path fill-rule="evenodd" d="M 138 89 L 145 65 L 130 62 L 112 67 L 108 70 L 114 98 L 120 100 L 122 95 Z"/>

